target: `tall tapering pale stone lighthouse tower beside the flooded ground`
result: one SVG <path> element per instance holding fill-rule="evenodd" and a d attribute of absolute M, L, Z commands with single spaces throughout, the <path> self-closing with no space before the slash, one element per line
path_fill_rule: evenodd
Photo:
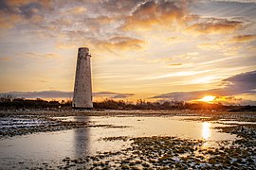
<path fill-rule="evenodd" d="M 89 48 L 79 48 L 72 103 L 75 109 L 93 108 L 90 58 Z"/>

